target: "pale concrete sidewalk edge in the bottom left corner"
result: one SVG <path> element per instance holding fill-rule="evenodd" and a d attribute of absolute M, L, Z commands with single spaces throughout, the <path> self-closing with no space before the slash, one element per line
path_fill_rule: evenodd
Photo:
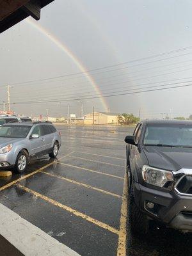
<path fill-rule="evenodd" d="M 79 256 L 3 204 L 0 227 L 1 256 Z"/>

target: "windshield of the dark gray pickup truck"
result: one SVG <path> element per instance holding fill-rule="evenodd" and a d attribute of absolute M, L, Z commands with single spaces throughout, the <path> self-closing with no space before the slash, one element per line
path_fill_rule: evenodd
<path fill-rule="evenodd" d="M 192 147 L 192 125 L 148 124 L 144 145 Z"/>

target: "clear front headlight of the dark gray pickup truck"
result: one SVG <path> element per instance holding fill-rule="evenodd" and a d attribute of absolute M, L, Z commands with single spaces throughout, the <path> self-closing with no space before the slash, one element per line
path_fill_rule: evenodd
<path fill-rule="evenodd" d="M 142 168 L 143 180 L 148 184 L 163 188 L 168 181 L 173 181 L 173 173 L 165 170 L 143 165 Z"/>

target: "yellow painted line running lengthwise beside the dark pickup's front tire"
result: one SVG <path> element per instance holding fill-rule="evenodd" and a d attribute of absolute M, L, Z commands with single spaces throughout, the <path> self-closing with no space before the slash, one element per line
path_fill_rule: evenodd
<path fill-rule="evenodd" d="M 128 180 L 127 172 L 124 177 L 124 192 L 122 195 L 122 209 L 120 217 L 120 231 L 118 236 L 117 256 L 126 256 L 126 239 L 127 239 L 127 195 L 128 195 Z"/>

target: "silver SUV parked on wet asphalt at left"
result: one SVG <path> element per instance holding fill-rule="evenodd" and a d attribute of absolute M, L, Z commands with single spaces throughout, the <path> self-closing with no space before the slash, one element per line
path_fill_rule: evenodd
<path fill-rule="evenodd" d="M 22 173 L 33 157 L 56 157 L 61 146 L 60 132 L 51 122 L 14 122 L 0 127 L 0 170 Z"/>

